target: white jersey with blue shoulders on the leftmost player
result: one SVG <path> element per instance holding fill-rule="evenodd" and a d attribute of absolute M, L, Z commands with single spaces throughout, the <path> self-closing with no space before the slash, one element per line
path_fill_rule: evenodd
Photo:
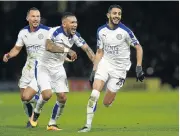
<path fill-rule="evenodd" d="M 30 65 L 34 65 L 35 60 L 38 60 L 42 56 L 45 50 L 48 31 L 49 27 L 42 24 L 34 32 L 30 31 L 30 26 L 26 26 L 20 30 L 16 46 L 26 46 L 27 62 Z"/>

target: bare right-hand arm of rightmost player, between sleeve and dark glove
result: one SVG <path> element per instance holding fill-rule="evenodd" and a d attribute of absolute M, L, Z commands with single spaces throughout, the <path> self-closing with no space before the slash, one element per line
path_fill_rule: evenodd
<path fill-rule="evenodd" d="M 136 45 L 136 58 L 137 58 L 137 66 L 142 66 L 142 58 L 143 58 L 143 49 L 141 45 Z"/>

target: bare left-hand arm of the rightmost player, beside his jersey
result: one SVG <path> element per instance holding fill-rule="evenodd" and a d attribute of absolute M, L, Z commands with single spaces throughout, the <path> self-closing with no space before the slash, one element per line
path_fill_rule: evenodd
<path fill-rule="evenodd" d="M 101 60 L 103 54 L 104 54 L 103 49 L 97 49 L 96 56 L 95 56 L 95 59 L 94 59 L 93 71 L 97 70 L 97 66 L 98 66 L 99 61 Z"/>

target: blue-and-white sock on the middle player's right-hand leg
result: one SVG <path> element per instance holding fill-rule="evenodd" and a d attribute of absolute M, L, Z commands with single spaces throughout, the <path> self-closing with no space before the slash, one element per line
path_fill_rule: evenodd
<path fill-rule="evenodd" d="M 56 101 L 56 104 L 54 105 L 52 115 L 51 115 L 51 119 L 49 120 L 48 125 L 56 124 L 57 119 L 63 113 L 64 107 L 65 107 L 64 103 L 60 103 L 60 102 Z"/>

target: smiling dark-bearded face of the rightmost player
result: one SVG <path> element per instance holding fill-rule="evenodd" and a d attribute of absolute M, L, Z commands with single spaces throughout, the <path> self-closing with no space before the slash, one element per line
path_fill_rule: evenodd
<path fill-rule="evenodd" d="M 121 9 L 119 8 L 112 8 L 112 10 L 110 11 L 110 13 L 108 13 L 109 15 L 109 21 L 113 24 L 113 25 L 117 25 L 119 24 L 120 20 L 121 20 Z"/>

